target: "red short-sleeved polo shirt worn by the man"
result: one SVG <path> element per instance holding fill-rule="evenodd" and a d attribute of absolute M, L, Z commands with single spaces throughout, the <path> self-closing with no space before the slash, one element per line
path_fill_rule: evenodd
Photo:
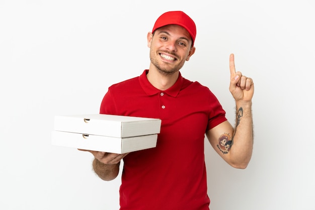
<path fill-rule="evenodd" d="M 121 210 L 209 209 L 205 132 L 226 121 L 209 88 L 179 75 L 167 90 L 142 75 L 109 87 L 100 113 L 162 120 L 155 148 L 124 158 Z"/>

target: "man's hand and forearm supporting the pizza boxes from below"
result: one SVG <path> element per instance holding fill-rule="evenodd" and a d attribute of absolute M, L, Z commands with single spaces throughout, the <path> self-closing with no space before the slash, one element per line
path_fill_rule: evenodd
<path fill-rule="evenodd" d="M 94 155 L 95 158 L 92 164 L 93 170 L 101 179 L 105 181 L 110 181 L 117 177 L 119 173 L 120 161 L 128 154 L 115 154 L 83 149 L 78 150 L 91 152 Z"/>

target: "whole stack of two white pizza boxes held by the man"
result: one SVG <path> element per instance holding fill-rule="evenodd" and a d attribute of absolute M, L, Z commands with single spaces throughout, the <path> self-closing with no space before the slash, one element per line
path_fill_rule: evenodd
<path fill-rule="evenodd" d="M 52 145 L 123 154 L 156 146 L 160 119 L 87 114 L 55 116 Z"/>

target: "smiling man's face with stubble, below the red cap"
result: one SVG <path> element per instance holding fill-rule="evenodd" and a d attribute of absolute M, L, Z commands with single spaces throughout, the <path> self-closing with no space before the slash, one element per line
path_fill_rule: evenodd
<path fill-rule="evenodd" d="M 149 33 L 147 39 L 151 63 L 164 74 L 179 71 L 195 52 L 190 34 L 178 25 L 161 27 L 154 36 Z"/>

